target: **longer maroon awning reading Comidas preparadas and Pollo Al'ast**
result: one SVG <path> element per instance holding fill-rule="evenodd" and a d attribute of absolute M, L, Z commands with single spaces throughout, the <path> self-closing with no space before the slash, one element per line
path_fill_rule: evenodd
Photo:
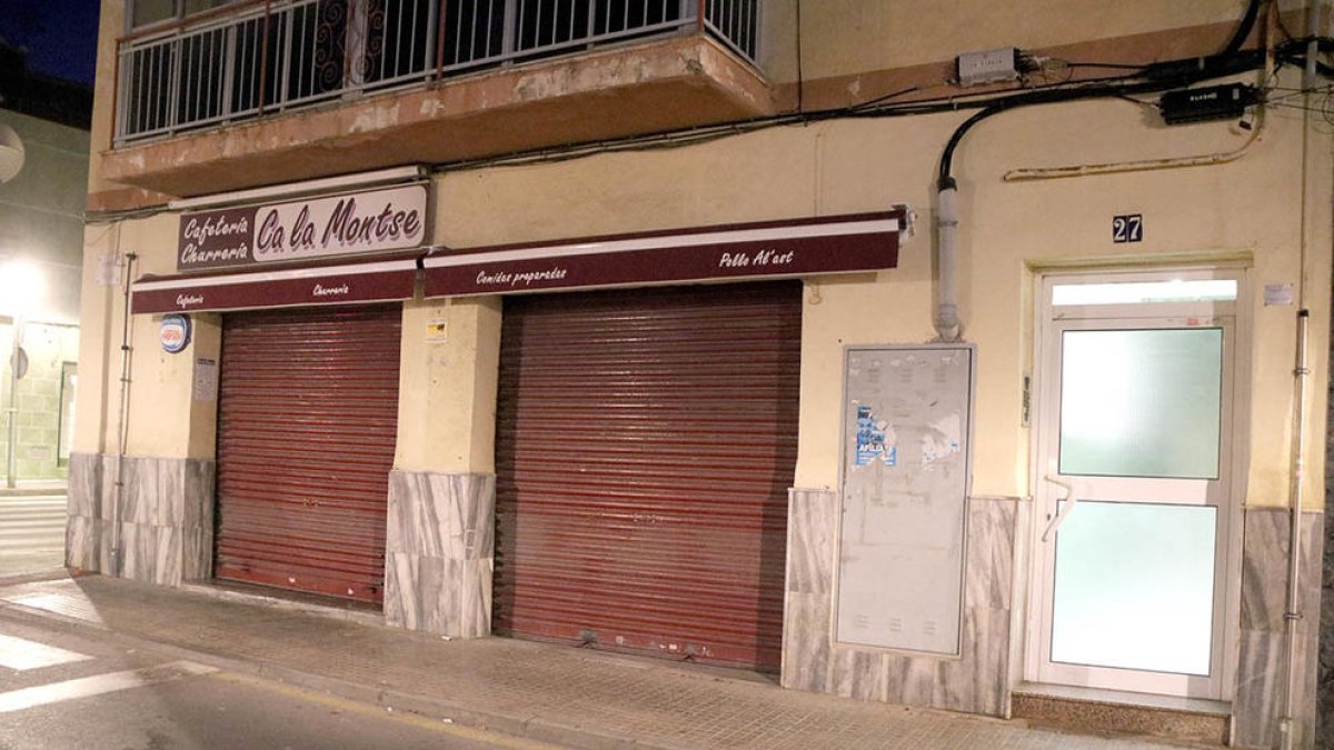
<path fill-rule="evenodd" d="M 880 271 L 898 264 L 907 214 L 895 208 L 466 251 L 438 248 L 424 260 L 426 296 Z"/>

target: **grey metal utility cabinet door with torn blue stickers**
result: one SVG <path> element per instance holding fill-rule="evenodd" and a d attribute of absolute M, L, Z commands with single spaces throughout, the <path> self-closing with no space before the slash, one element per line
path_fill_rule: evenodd
<path fill-rule="evenodd" d="M 958 654 L 972 344 L 850 346 L 835 641 Z"/>

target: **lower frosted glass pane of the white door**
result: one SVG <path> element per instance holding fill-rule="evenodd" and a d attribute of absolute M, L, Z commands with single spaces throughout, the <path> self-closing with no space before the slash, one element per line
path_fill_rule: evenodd
<path fill-rule="evenodd" d="M 1051 661 L 1207 675 L 1218 508 L 1079 500 L 1057 532 Z"/>

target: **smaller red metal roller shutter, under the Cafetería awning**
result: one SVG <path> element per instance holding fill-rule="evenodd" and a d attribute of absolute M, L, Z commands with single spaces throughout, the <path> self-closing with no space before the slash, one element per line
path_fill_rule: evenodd
<path fill-rule="evenodd" d="M 383 599 L 402 308 L 223 318 L 217 578 Z"/>

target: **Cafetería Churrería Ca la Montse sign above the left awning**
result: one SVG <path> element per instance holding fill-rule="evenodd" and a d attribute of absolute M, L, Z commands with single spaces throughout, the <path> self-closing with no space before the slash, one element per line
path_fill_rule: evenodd
<path fill-rule="evenodd" d="M 183 214 L 176 270 L 418 247 L 426 214 L 426 185 Z"/>

